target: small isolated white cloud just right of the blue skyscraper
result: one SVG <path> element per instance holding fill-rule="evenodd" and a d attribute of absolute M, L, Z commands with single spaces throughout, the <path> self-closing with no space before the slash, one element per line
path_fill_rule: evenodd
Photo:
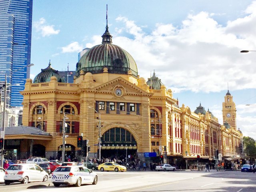
<path fill-rule="evenodd" d="M 34 28 L 36 32 L 40 32 L 43 37 L 56 35 L 60 30 L 55 30 L 54 25 L 48 25 L 44 18 L 40 18 L 39 21 L 34 22 Z"/>

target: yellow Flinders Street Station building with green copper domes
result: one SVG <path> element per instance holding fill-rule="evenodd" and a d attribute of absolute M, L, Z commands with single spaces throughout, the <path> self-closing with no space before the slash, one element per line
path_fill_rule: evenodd
<path fill-rule="evenodd" d="M 6 128 L 5 147 L 17 149 L 18 158 L 60 157 L 64 115 L 66 155 L 79 157 L 77 136 L 82 134 L 92 158 L 98 158 L 99 137 L 102 158 L 127 152 L 156 162 L 163 154 L 172 164 L 195 161 L 197 155 L 213 160 L 216 150 L 223 159 L 241 157 L 242 132 L 229 91 L 222 103 L 223 124 L 201 104 L 191 110 L 173 98 L 157 72 L 147 79 L 138 75 L 132 56 L 112 44 L 108 26 L 102 44 L 88 49 L 76 64 L 73 83 L 65 83 L 53 66 L 26 80 L 22 126 Z"/>

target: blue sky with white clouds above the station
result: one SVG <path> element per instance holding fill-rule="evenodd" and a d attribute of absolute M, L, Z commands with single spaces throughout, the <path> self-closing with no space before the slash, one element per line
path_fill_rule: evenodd
<path fill-rule="evenodd" d="M 222 119 L 227 90 L 237 128 L 256 139 L 256 1 L 251 0 L 34 0 L 30 78 L 51 60 L 76 69 L 78 52 L 101 44 L 128 51 L 145 79 L 155 71 L 179 105 L 204 106 Z M 246 104 L 252 104 L 246 106 Z"/>

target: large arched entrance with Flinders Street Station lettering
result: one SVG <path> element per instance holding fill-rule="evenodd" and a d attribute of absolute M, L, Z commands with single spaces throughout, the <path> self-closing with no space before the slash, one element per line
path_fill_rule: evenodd
<path fill-rule="evenodd" d="M 101 138 L 102 158 L 115 158 L 122 160 L 127 156 L 136 157 L 137 142 L 134 136 L 124 128 L 112 128 L 106 131 Z"/>

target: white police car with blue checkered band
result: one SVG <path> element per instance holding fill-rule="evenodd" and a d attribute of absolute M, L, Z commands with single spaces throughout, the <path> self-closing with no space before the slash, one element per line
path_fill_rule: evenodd
<path fill-rule="evenodd" d="M 52 183 L 55 187 L 60 185 L 75 185 L 92 183 L 96 185 L 98 176 L 84 166 L 60 166 L 52 172 Z"/>

